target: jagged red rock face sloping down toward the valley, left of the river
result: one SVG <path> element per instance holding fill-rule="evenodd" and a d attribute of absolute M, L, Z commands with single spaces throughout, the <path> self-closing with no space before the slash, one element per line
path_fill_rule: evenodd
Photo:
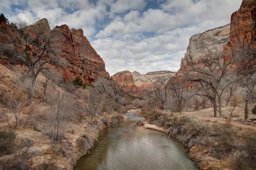
<path fill-rule="evenodd" d="M 58 44 L 57 49 L 68 61 L 69 67 L 62 68 L 66 81 L 80 77 L 87 83 L 98 76 L 109 78 L 105 63 L 83 35 L 82 29 L 69 29 L 68 25 L 56 26 L 51 30 L 51 37 Z"/>

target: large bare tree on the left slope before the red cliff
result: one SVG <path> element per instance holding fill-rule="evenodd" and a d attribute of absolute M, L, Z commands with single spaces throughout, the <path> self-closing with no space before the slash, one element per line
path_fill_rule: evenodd
<path fill-rule="evenodd" d="M 47 69 L 47 64 L 56 63 L 56 51 L 52 49 L 53 43 L 50 31 L 44 28 L 41 21 L 31 19 L 31 25 L 21 19 L 11 27 L 11 38 L 6 38 L 8 44 L 1 47 L 4 55 L 10 60 L 28 67 L 29 89 L 28 98 L 31 104 L 35 83 L 39 73 Z"/>

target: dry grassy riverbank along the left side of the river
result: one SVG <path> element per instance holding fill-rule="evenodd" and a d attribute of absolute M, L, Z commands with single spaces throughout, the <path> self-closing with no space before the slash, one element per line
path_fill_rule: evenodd
<path fill-rule="evenodd" d="M 16 131 L 18 152 L 0 158 L 0 169 L 72 169 L 78 159 L 90 153 L 100 132 L 106 127 L 116 125 L 123 119 L 117 112 L 102 113 L 80 122 L 70 122 L 72 131 L 66 132 L 65 139 L 52 149 L 50 140 L 32 129 Z M 23 147 L 31 142 L 30 147 Z"/>

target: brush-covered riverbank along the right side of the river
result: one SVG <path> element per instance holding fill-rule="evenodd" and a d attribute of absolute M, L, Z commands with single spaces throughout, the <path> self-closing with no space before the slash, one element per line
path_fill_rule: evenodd
<path fill-rule="evenodd" d="M 188 150 L 188 157 L 200 169 L 255 169 L 256 131 L 228 124 L 172 117 L 144 115 L 144 128 L 169 134 Z"/>

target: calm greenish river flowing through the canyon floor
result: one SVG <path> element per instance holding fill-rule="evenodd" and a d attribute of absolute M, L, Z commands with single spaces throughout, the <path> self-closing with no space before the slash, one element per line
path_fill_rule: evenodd
<path fill-rule="evenodd" d="M 197 169 L 167 134 L 135 126 L 144 118 L 134 114 L 135 110 L 127 112 L 117 126 L 105 129 L 74 169 Z"/>

